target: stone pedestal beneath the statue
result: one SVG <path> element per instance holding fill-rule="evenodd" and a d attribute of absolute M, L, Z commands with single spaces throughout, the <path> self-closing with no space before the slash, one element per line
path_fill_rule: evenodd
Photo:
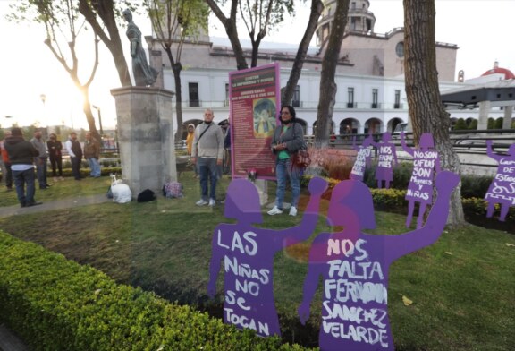
<path fill-rule="evenodd" d="M 173 141 L 173 92 L 147 87 L 111 90 L 116 102 L 123 181 L 132 197 L 177 180 Z"/>

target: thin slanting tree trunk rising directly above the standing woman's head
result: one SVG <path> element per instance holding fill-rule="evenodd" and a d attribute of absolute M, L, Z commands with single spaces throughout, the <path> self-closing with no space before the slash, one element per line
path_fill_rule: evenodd
<path fill-rule="evenodd" d="M 283 105 L 291 105 L 291 99 L 293 98 L 293 93 L 300 79 L 300 72 L 302 71 L 302 65 L 304 64 L 304 59 L 308 52 L 309 43 L 315 34 L 315 30 L 317 30 L 318 19 L 323 10 L 324 3 L 322 3 L 322 0 L 311 1 L 311 13 L 309 14 L 308 26 L 300 41 L 299 50 L 297 50 L 297 56 L 295 56 L 293 66 L 291 66 L 290 78 L 282 91 L 281 103 Z"/>

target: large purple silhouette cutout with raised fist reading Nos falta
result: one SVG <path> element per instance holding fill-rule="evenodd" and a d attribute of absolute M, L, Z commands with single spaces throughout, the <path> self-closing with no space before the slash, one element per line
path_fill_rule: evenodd
<path fill-rule="evenodd" d="M 334 187 L 327 221 L 344 228 L 338 233 L 317 235 L 311 245 L 299 307 L 300 322 L 304 324 L 322 276 L 322 351 L 393 350 L 387 312 L 390 264 L 438 239 L 447 220 L 452 189 L 459 181 L 460 177 L 451 172 L 437 175 L 438 197 L 426 225 L 403 235 L 362 233 L 362 229 L 376 227 L 367 185 L 346 180 Z"/>

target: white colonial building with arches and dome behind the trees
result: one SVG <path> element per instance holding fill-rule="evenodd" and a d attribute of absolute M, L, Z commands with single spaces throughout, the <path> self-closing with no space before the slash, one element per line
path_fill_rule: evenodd
<path fill-rule="evenodd" d="M 333 23 L 335 1 L 325 1 L 325 10 L 317 29 L 317 46 L 310 49 L 292 101 L 307 134 L 316 127 L 320 72 L 327 35 Z M 408 106 L 404 87 L 404 30 L 376 33 L 376 18 L 368 11 L 368 0 L 352 0 L 349 21 L 342 42 L 341 59 L 335 81 L 338 85 L 333 112 L 333 133 L 348 129 L 353 133 L 392 132 L 399 123 L 408 123 Z M 158 85 L 175 90 L 168 58 L 156 38 L 147 37 L 150 62 L 161 71 Z M 245 42 L 242 41 L 242 45 Z M 278 62 L 281 85 L 288 81 L 298 43 L 267 44 L 259 50 L 258 65 Z M 456 90 L 467 84 L 455 81 L 455 44 L 436 43 L 436 60 L 441 92 Z M 245 50 L 250 57 L 250 49 Z M 182 114 L 184 124 L 202 119 L 205 108 L 212 108 L 215 121 L 229 117 L 229 72 L 236 61 L 228 39 L 202 34 L 185 43 L 182 49 Z M 248 60 L 249 62 L 249 60 Z M 454 109 L 452 118 L 477 118 L 477 109 Z M 490 116 L 502 116 L 499 108 Z"/>

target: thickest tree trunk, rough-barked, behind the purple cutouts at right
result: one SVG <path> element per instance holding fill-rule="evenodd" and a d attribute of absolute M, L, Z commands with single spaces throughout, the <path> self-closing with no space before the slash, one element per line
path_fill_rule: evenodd
<path fill-rule="evenodd" d="M 451 121 L 438 86 L 435 45 L 435 0 L 404 0 L 404 71 L 413 138 L 431 133 L 443 169 L 460 174 L 460 158 L 449 138 Z M 461 205 L 461 184 L 454 190 L 447 223 L 465 223 Z"/>

